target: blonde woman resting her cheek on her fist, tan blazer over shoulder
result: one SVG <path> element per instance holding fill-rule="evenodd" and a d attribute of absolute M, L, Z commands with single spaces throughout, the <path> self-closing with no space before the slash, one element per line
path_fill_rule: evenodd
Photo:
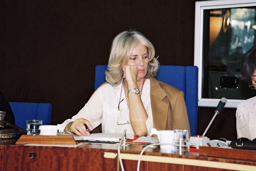
<path fill-rule="evenodd" d="M 151 129 L 188 129 L 182 91 L 157 81 L 159 63 L 153 44 L 138 31 L 123 31 L 112 42 L 106 81 L 79 113 L 62 124 L 79 136 L 101 124 L 102 133 L 151 136 Z M 88 126 L 88 131 L 84 126 Z"/>

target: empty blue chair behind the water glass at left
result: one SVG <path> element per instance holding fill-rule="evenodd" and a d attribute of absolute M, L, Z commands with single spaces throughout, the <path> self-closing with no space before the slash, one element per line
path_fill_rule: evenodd
<path fill-rule="evenodd" d="M 9 102 L 15 125 L 26 131 L 26 120 L 42 120 L 42 125 L 51 125 L 52 105 L 49 103 Z"/>

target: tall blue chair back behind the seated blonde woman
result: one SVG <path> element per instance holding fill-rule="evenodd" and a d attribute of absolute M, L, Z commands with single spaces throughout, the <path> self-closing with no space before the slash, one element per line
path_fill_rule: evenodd
<path fill-rule="evenodd" d="M 96 90 L 105 82 L 105 70 L 107 65 L 95 67 L 94 89 Z M 198 68 L 197 66 L 173 66 L 160 65 L 157 80 L 165 82 L 184 92 L 187 106 L 188 120 L 191 136 L 197 134 L 197 112 L 198 112 Z"/>

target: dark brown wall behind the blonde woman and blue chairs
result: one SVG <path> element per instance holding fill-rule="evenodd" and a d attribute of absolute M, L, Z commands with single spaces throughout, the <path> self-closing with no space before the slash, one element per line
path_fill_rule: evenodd
<path fill-rule="evenodd" d="M 145 34 L 161 65 L 193 65 L 194 11 L 195 0 L 1 0 L 0 91 L 9 102 L 51 103 L 52 124 L 62 123 L 88 101 L 94 68 L 123 30 Z"/>

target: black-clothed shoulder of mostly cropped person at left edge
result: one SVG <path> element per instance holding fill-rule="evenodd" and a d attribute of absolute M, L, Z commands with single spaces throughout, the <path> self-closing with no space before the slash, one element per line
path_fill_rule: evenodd
<path fill-rule="evenodd" d="M 5 112 L 4 120 L 15 124 L 14 115 L 8 102 L 5 101 L 4 95 L 0 92 L 0 111 Z"/>

